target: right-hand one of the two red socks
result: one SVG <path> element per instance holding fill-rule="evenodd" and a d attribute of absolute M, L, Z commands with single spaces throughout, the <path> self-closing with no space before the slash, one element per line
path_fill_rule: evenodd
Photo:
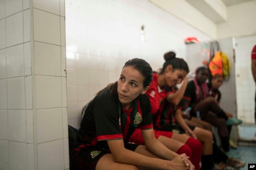
<path fill-rule="evenodd" d="M 195 166 L 195 170 L 200 170 L 199 164 L 201 161 L 202 150 L 203 150 L 202 143 L 197 139 L 189 137 L 189 139 L 187 139 L 186 144 L 187 146 L 189 146 L 189 148 L 192 151 L 191 163 Z"/>

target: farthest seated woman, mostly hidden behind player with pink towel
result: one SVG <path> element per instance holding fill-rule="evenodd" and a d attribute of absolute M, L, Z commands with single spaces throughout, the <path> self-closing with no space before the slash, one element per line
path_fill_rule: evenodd
<path fill-rule="evenodd" d="M 213 75 L 211 80 L 207 83 L 209 88 L 208 95 L 213 97 L 217 100 L 218 103 L 221 101 L 221 92 L 219 91 L 219 87 L 223 83 L 223 76 L 222 75 Z M 231 113 L 226 112 L 226 115 L 232 119 L 233 115 Z M 242 124 L 243 121 L 240 119 L 236 119 L 236 122 L 233 125 Z M 232 130 L 232 125 L 227 125 L 228 129 L 228 138 L 229 138 L 229 144 L 231 148 L 237 148 L 237 145 L 233 143 L 233 141 L 230 139 L 230 132 Z"/>

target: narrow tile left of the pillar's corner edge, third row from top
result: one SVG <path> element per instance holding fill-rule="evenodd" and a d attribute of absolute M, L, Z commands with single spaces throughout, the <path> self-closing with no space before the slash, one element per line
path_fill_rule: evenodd
<path fill-rule="evenodd" d="M 31 43 L 24 43 L 24 74 L 31 75 Z"/>

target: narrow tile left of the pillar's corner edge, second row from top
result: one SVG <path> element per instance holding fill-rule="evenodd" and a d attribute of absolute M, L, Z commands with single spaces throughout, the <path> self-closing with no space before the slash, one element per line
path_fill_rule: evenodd
<path fill-rule="evenodd" d="M 30 41 L 30 9 L 23 11 L 24 42 Z"/>

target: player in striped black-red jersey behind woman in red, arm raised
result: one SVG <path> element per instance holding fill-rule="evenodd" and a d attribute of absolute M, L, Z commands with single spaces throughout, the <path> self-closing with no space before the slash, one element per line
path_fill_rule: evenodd
<path fill-rule="evenodd" d="M 182 95 L 184 94 L 184 86 L 186 86 L 187 80 L 184 79 L 184 83 L 177 89 L 166 88 L 165 100 L 162 102 L 160 106 L 161 112 L 158 112 L 156 115 L 156 119 L 153 120 L 157 130 L 164 131 L 176 131 L 177 133 L 186 133 L 191 137 L 197 137 L 203 144 L 203 153 L 202 158 L 204 159 L 204 155 L 208 155 L 210 149 L 212 148 L 212 157 L 215 162 L 215 170 L 236 170 L 237 168 L 241 168 L 245 166 L 245 163 L 239 159 L 228 157 L 224 152 L 222 152 L 219 147 L 213 143 L 212 141 L 212 132 L 208 130 L 204 130 L 199 128 L 198 126 L 187 126 L 186 122 L 182 117 L 181 111 L 181 103 L 177 106 L 178 101 L 182 99 Z M 155 127 L 154 126 L 154 127 Z M 202 160 L 202 163 L 204 160 Z M 202 166 L 204 168 L 204 166 Z"/>

